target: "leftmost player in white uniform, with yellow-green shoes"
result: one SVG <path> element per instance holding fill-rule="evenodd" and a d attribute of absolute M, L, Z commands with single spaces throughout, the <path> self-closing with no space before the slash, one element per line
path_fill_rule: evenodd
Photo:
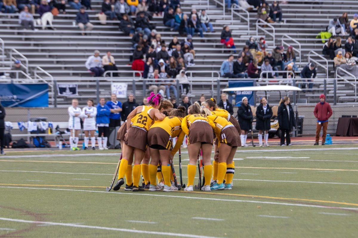
<path fill-rule="evenodd" d="M 69 143 L 71 150 L 80 150 L 78 148 L 78 134 L 81 130 L 81 117 L 82 110 L 78 107 L 78 100 L 72 99 L 72 106 L 68 107 L 68 128 L 71 130 L 71 136 L 69 137 Z"/>

